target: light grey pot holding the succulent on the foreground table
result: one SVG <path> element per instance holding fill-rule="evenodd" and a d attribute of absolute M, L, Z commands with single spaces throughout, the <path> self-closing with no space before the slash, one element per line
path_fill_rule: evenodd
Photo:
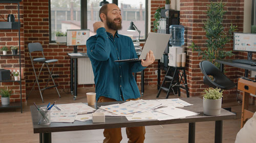
<path fill-rule="evenodd" d="M 205 99 L 203 98 L 204 114 L 209 116 L 217 116 L 221 114 L 221 99 Z"/>

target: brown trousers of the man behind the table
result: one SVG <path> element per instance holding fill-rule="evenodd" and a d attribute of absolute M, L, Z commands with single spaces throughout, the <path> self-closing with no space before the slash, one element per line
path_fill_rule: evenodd
<path fill-rule="evenodd" d="M 139 100 L 132 99 L 132 100 Z M 115 99 L 99 97 L 98 102 L 112 102 Z M 127 100 L 129 101 L 129 100 Z M 145 139 L 145 127 L 127 127 L 126 135 L 129 138 L 128 143 L 143 143 Z M 119 143 L 122 140 L 121 128 L 104 129 L 103 135 L 105 139 L 103 143 Z"/>

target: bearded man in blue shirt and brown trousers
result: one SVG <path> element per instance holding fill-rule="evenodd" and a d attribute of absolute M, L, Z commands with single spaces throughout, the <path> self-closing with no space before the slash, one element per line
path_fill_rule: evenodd
<path fill-rule="evenodd" d="M 122 28 L 121 10 L 115 4 L 103 5 L 99 10 L 99 22 L 93 24 L 97 34 L 87 40 L 87 53 L 91 60 L 97 102 L 138 100 L 140 92 L 133 73 L 142 71 L 155 61 L 152 51 L 141 62 L 115 60 L 138 58 L 133 40 L 118 34 Z M 145 127 L 126 128 L 128 142 L 141 143 L 145 139 Z M 122 140 L 121 128 L 104 129 L 104 143 Z"/>

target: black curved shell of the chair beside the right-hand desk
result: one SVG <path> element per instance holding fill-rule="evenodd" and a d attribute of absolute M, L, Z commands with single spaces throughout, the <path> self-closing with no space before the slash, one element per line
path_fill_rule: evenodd
<path fill-rule="evenodd" d="M 204 84 L 209 85 L 212 88 L 220 88 L 222 90 L 228 90 L 236 87 L 228 77 L 226 77 L 214 64 L 209 61 L 202 61 L 199 63 L 200 69 L 204 74 Z M 214 79 L 211 80 L 209 75 Z"/>

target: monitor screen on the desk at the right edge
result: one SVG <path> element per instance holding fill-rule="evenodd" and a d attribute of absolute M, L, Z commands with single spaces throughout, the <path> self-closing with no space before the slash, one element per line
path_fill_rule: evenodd
<path fill-rule="evenodd" d="M 233 50 L 256 52 L 256 34 L 234 33 Z"/>

